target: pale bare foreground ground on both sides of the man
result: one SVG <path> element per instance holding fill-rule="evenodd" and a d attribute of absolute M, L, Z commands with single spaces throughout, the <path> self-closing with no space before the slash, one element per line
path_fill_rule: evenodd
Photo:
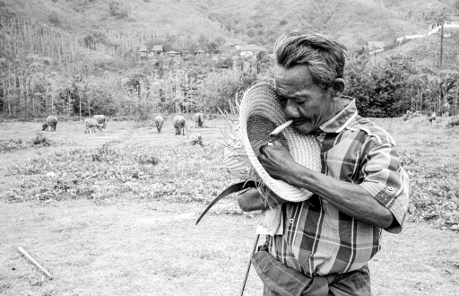
<path fill-rule="evenodd" d="M 116 200 L 3 205 L 0 294 L 236 295 L 255 220 L 211 214 L 204 205 Z M 22 246 L 55 276 L 42 278 Z M 385 234 L 371 261 L 374 295 L 457 295 L 459 236 L 426 224 Z M 260 295 L 251 273 L 246 295 Z"/>

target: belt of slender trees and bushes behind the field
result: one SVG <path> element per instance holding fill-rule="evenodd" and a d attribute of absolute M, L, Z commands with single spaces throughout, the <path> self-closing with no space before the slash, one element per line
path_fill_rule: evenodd
<path fill-rule="evenodd" d="M 143 44 L 177 40 L 170 32 L 106 31 L 79 36 L 18 19 L 0 20 L 0 113 L 5 117 L 108 116 L 217 112 L 251 84 L 272 79 L 273 56 L 140 57 Z M 202 46 L 203 44 L 200 44 Z M 429 48 L 420 48 L 429 51 Z M 226 57 L 226 58 L 225 58 Z M 346 94 L 368 117 L 407 110 L 459 112 L 459 74 L 420 68 L 411 58 L 352 57 Z"/>

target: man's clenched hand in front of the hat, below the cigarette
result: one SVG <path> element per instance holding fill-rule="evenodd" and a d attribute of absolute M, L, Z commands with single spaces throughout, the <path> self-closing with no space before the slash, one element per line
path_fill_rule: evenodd
<path fill-rule="evenodd" d="M 273 178 L 278 178 L 288 182 L 287 177 L 292 165 L 297 162 L 291 157 L 287 147 L 279 141 L 274 141 L 273 145 L 265 144 L 260 147 L 258 161 L 263 165 L 264 170 Z"/>

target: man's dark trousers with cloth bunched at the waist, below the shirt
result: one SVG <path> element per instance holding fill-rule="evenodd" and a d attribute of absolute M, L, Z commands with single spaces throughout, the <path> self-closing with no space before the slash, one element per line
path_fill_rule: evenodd
<path fill-rule="evenodd" d="M 264 283 L 263 296 L 371 295 L 368 266 L 346 274 L 311 278 L 282 264 L 268 252 L 256 252 L 251 261 Z"/>

